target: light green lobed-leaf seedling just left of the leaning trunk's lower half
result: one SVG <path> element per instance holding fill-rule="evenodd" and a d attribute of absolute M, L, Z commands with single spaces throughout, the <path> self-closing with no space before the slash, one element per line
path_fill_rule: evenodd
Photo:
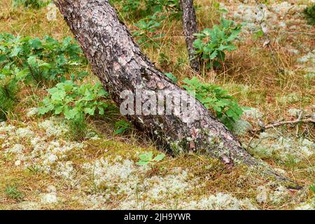
<path fill-rule="evenodd" d="M 76 120 L 84 116 L 104 115 L 109 105 L 102 102 L 109 94 L 100 83 L 95 85 L 76 85 L 71 80 L 58 83 L 48 89 L 49 97 L 45 97 L 38 108 L 38 113 L 63 115 L 67 120 Z"/>

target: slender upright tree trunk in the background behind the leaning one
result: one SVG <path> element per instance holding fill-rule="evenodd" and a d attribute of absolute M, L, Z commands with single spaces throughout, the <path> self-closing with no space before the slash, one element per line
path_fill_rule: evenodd
<path fill-rule="evenodd" d="M 196 39 L 194 34 L 197 34 L 197 19 L 194 8 L 193 0 L 182 0 L 181 10 L 183 10 L 183 32 L 186 38 L 186 45 L 188 49 L 188 56 L 190 60 L 190 67 L 199 72 L 200 71 L 200 59 L 195 55 L 195 49 L 193 43 Z"/>

